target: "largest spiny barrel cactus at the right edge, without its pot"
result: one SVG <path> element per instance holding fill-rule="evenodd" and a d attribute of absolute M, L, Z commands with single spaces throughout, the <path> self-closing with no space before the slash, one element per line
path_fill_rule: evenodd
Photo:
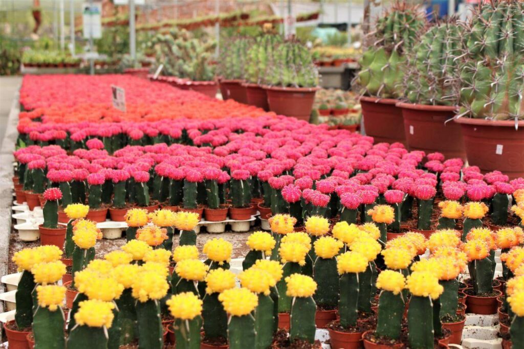
<path fill-rule="evenodd" d="M 460 67 L 460 116 L 524 119 L 524 5 L 492 1 L 467 25 Z"/>

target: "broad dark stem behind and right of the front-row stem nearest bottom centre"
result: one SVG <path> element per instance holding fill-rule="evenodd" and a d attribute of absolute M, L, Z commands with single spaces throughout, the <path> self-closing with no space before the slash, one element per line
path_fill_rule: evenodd
<path fill-rule="evenodd" d="M 313 264 L 313 279 L 317 285 L 313 296 L 316 304 L 326 309 L 335 309 L 340 293 L 336 258 L 317 257 Z"/>

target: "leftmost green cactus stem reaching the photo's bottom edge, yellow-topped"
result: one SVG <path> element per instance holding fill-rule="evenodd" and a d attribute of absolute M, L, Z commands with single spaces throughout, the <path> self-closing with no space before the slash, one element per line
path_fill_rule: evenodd
<path fill-rule="evenodd" d="M 35 348 L 64 349 L 64 313 L 62 308 L 54 311 L 39 306 L 33 316 Z"/>

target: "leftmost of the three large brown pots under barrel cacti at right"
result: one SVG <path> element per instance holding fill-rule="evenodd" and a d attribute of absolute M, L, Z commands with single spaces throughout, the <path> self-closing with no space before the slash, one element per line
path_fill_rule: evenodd
<path fill-rule="evenodd" d="M 395 106 L 397 99 L 363 96 L 360 102 L 367 136 L 372 136 L 375 143 L 400 142 L 407 145 L 402 110 Z"/>

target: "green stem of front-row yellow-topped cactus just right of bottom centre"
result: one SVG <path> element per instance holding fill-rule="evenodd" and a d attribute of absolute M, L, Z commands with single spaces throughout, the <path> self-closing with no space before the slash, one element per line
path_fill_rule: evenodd
<path fill-rule="evenodd" d="M 289 320 L 289 336 L 291 342 L 301 339 L 313 343 L 315 341 L 316 304 L 313 297 L 293 297 Z"/>

